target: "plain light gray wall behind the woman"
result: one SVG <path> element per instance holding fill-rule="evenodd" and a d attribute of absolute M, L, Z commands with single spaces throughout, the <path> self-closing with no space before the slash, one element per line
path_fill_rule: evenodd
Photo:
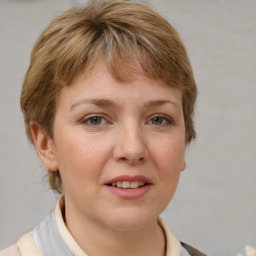
<path fill-rule="evenodd" d="M 19 95 L 35 40 L 82 1 L 0 0 L 0 248 L 55 204 L 25 137 Z M 256 1 L 151 0 L 180 32 L 199 88 L 198 138 L 164 219 L 212 256 L 256 246 Z"/>

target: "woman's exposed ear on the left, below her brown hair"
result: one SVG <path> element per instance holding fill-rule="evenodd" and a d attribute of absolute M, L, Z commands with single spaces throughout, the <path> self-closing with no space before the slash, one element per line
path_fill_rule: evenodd
<path fill-rule="evenodd" d="M 34 123 L 29 123 L 30 131 L 34 140 L 37 154 L 44 166 L 51 171 L 57 171 L 58 165 L 55 158 L 54 143 L 50 136 L 42 128 Z"/>

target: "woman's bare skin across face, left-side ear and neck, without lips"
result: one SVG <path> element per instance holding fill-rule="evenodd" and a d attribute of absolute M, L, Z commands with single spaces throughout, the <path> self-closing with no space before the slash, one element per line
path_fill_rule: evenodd
<path fill-rule="evenodd" d="M 30 126 L 44 165 L 60 170 L 66 225 L 88 255 L 165 255 L 157 216 L 185 169 L 178 89 L 143 75 L 120 83 L 98 63 L 58 95 L 54 138 Z M 123 199 L 105 185 L 120 175 L 152 184 L 143 196 Z"/>

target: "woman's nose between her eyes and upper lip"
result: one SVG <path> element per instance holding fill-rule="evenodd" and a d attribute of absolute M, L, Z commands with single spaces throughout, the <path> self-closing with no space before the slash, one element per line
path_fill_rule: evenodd
<path fill-rule="evenodd" d="M 146 136 L 139 125 L 119 129 L 113 157 L 129 164 L 142 163 L 148 158 Z"/>

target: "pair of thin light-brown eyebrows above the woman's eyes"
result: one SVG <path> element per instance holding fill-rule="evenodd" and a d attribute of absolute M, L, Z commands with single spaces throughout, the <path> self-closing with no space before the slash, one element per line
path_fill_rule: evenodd
<path fill-rule="evenodd" d="M 70 110 L 73 110 L 75 107 L 81 105 L 81 104 L 93 104 L 99 107 L 120 107 L 118 103 L 116 103 L 113 100 L 109 99 L 82 99 L 77 102 L 75 102 Z M 180 104 L 170 101 L 170 100 L 150 100 L 149 102 L 146 102 L 143 108 L 152 108 L 152 107 L 158 107 L 164 104 L 172 104 L 175 106 L 175 108 L 180 109 Z"/>

